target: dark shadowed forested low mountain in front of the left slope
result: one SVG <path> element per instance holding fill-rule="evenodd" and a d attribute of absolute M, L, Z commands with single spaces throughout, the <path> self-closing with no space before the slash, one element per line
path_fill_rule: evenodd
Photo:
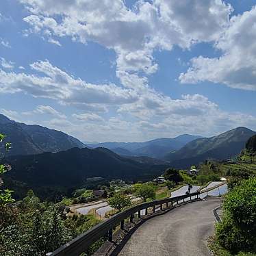
<path fill-rule="evenodd" d="M 15 192 L 21 187 L 24 190 L 32 188 L 44 198 L 56 190 L 65 194 L 68 189 L 84 185 L 88 178 L 148 180 L 168 167 L 166 164 L 120 157 L 105 148 L 73 148 L 57 153 L 14 155 L 6 157 L 3 162 L 12 166 L 12 170 L 3 177 L 10 188 Z M 20 184 L 18 190 L 16 184 Z"/>

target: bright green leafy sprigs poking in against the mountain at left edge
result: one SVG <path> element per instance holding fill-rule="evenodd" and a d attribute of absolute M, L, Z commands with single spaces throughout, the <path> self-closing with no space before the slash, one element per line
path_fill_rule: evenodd
<path fill-rule="evenodd" d="M 6 136 L 0 133 L 0 142 L 3 142 L 3 139 Z M 5 142 L 5 151 L 8 152 L 12 147 L 10 142 Z M 3 155 L 0 157 L 0 160 L 3 159 Z M 11 166 L 8 164 L 0 164 L 0 186 L 3 185 L 3 179 L 1 179 L 1 175 L 3 173 L 8 172 L 11 169 Z M 12 190 L 0 189 L 0 206 L 7 205 L 8 203 L 12 203 L 14 199 L 12 199 Z"/>

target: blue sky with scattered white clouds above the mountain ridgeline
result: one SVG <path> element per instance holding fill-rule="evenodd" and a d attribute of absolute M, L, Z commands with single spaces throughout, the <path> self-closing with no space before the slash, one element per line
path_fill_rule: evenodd
<path fill-rule="evenodd" d="M 0 113 L 86 142 L 256 130 L 255 5 L 1 0 Z"/>

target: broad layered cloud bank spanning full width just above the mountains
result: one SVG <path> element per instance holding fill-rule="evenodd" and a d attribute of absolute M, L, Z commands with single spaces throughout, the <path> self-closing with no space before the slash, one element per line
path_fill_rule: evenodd
<path fill-rule="evenodd" d="M 64 107 L 76 107 L 81 112 L 73 114 L 73 119 L 49 105 L 38 105 L 30 114 L 49 114 L 53 119 L 42 125 L 61 128 L 77 136 L 81 134 L 81 138 L 84 138 L 83 134 L 105 138 L 107 133 L 107 138 L 113 140 L 117 134 L 120 140 L 125 141 L 130 138 L 148 140 L 157 136 L 170 137 L 180 131 L 207 136 L 212 131 L 225 131 L 241 125 L 250 127 L 256 122 L 255 116 L 220 110 L 216 103 L 200 94 L 172 99 L 149 88 L 147 80 L 141 77 L 130 77 L 133 82 L 140 81 L 141 88 L 138 90 L 138 87 L 129 88 L 128 81 L 126 87 L 88 84 L 68 75 L 49 61 L 35 62 L 30 66 L 41 75 L 0 69 L 0 92 L 24 92 L 33 97 L 53 99 Z M 103 118 L 105 112 L 109 112 L 108 119 Z M 96 136 L 97 132 L 99 137 Z"/>

